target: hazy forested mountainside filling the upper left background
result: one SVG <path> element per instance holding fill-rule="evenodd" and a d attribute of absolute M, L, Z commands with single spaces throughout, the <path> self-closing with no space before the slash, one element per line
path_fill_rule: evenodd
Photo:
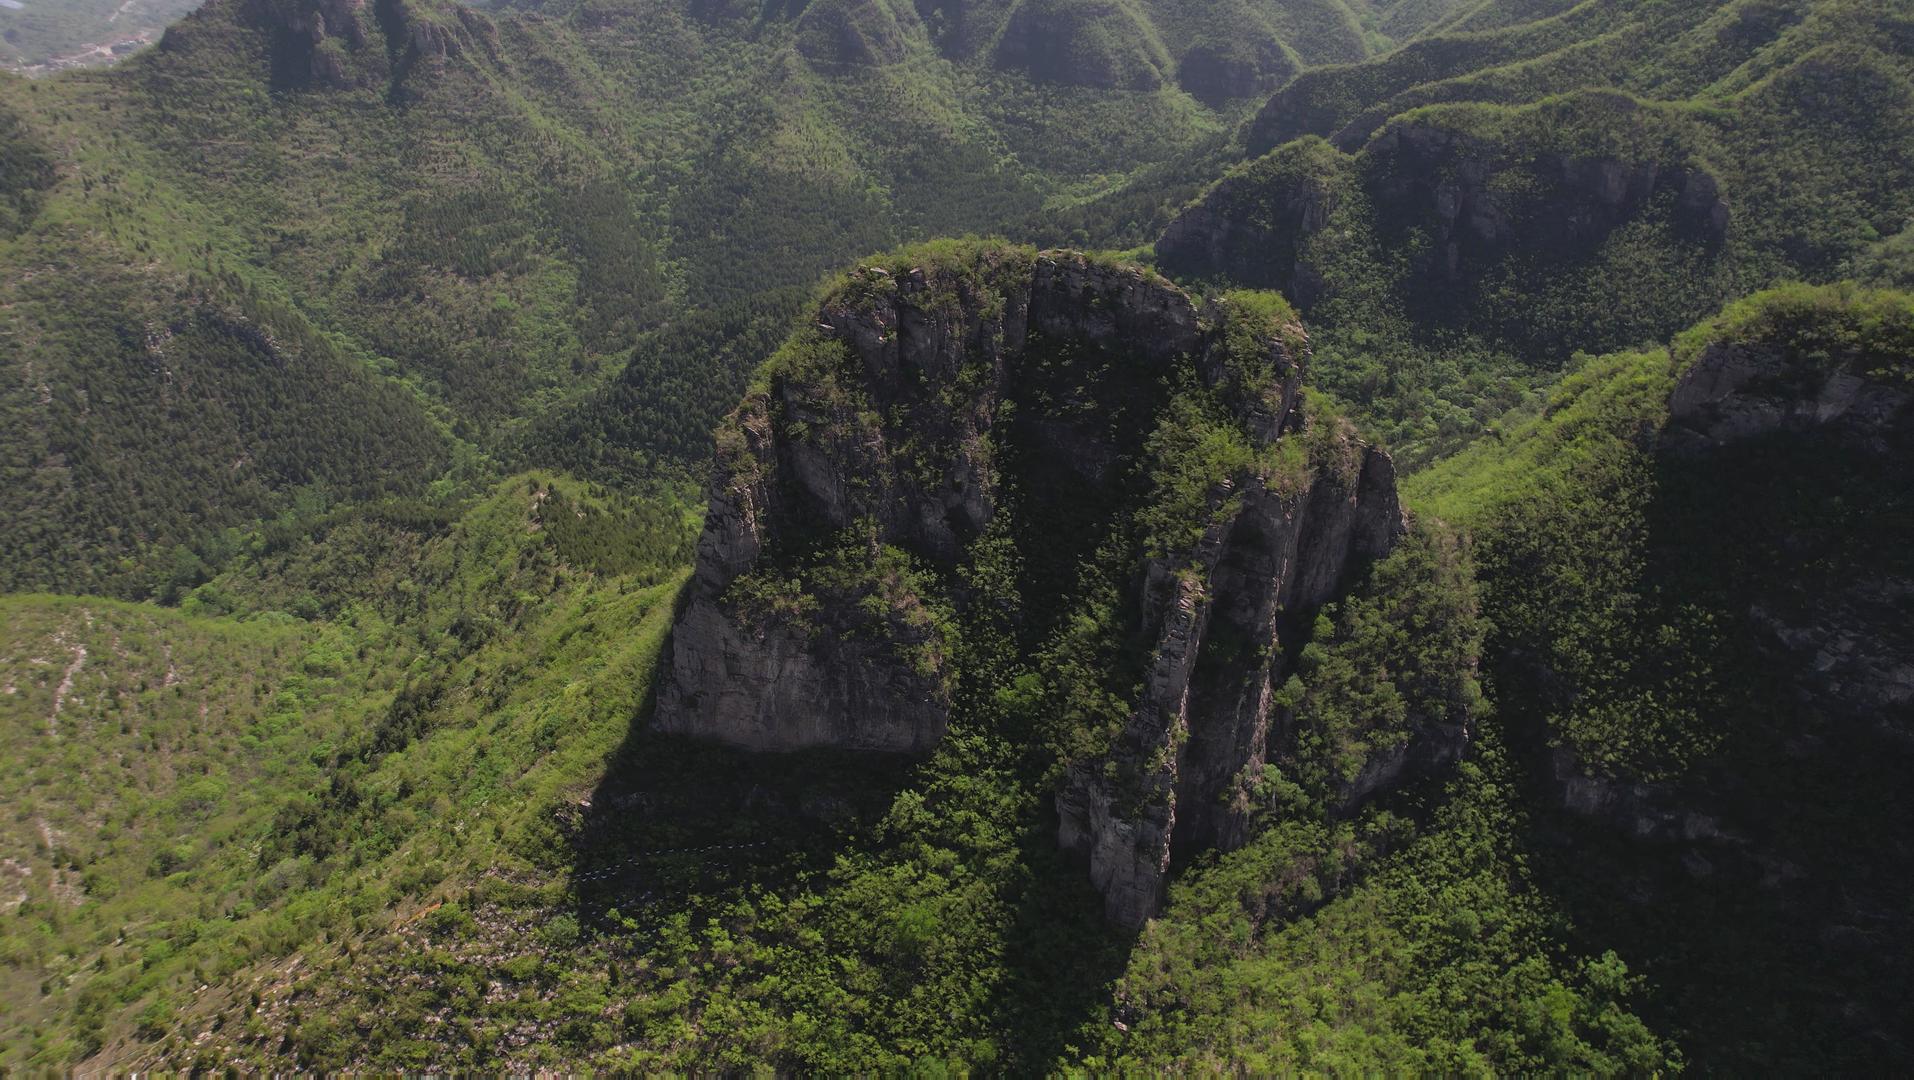
<path fill-rule="evenodd" d="M 394 492 L 450 460 L 523 461 L 549 448 L 540 417 L 616 398 L 634 354 L 626 387 L 710 391 L 653 398 L 653 421 L 616 425 L 620 450 L 699 458 L 762 358 L 722 343 L 781 337 L 794 303 L 777 289 L 907 236 L 997 228 L 1227 130 L 1175 86 L 1110 96 L 946 59 L 919 21 L 886 63 L 819 63 L 821 17 L 222 2 L 113 71 L 8 80 L 6 529 L 36 550 L 4 582 L 144 596 L 121 559 L 207 555 L 207 527 L 299 490 L 362 496 L 364 417 L 408 431 L 379 477 Z M 235 416 L 270 391 L 228 389 L 199 350 L 170 371 L 149 345 L 207 318 L 287 350 L 249 370 L 371 383 L 306 394 L 333 417 Z M 712 370 L 706 349 L 731 362 Z M 52 391 L 82 379 L 113 381 L 94 391 L 105 408 Z M 279 452 L 264 423 L 300 446 Z M 73 431 L 130 433 L 113 471 L 165 507 L 115 498 Z M 264 467 L 276 452 L 302 467 Z M 168 519 L 186 506 L 199 529 Z"/>

